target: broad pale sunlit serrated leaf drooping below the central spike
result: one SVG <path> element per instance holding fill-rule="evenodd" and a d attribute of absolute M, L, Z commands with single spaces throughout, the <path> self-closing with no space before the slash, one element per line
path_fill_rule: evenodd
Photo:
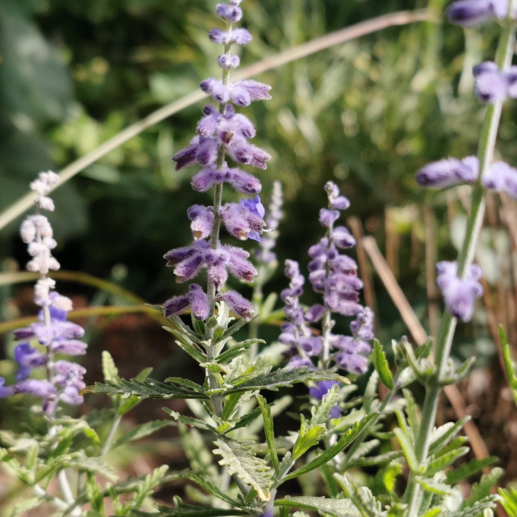
<path fill-rule="evenodd" d="M 235 474 L 245 484 L 257 490 L 260 500 L 268 501 L 273 477 L 267 463 L 262 458 L 257 458 L 245 443 L 237 440 L 221 437 L 213 444 L 218 447 L 213 454 L 223 456 L 219 465 L 227 465 L 228 474 Z"/>

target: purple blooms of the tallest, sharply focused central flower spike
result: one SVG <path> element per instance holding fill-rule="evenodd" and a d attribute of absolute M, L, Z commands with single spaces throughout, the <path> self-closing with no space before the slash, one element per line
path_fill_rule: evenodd
<path fill-rule="evenodd" d="M 229 167 L 226 156 L 241 165 L 251 165 L 266 169 L 269 154 L 250 144 L 248 140 L 255 136 L 253 123 L 243 114 L 236 113 L 234 105 L 248 106 L 255 100 L 267 100 L 269 85 L 253 80 L 229 81 L 232 68 L 239 66 L 239 57 L 230 54 L 232 45 L 246 45 L 251 35 L 246 29 L 234 29 L 234 22 L 242 17 L 239 7 L 241 0 L 219 3 L 216 13 L 226 22 L 226 30 L 213 29 L 209 38 L 213 43 L 224 45 L 224 53 L 218 58 L 223 69 L 223 80 L 213 78 L 201 82 L 205 93 L 211 94 L 219 103 L 219 108 L 211 105 L 203 109 L 203 117 L 197 124 L 197 135 L 186 149 L 182 149 L 172 160 L 176 170 L 188 165 L 201 165 L 200 172 L 194 175 L 191 185 L 194 190 L 205 192 L 223 183 L 230 185 L 239 193 L 253 197 L 242 199 L 239 203 L 230 202 L 218 207 L 194 205 L 188 209 L 188 218 L 194 242 L 191 246 L 170 250 L 165 254 L 167 266 L 174 267 L 177 282 L 186 282 L 207 269 L 210 286 L 215 287 L 216 300 L 224 301 L 234 313 L 250 320 L 253 306 L 241 294 L 234 291 L 223 292 L 228 273 L 239 280 L 253 282 L 257 270 L 248 260 L 249 253 L 236 246 L 221 244 L 218 230 L 222 222 L 227 232 L 244 241 L 254 239 L 261 241 L 264 230 L 264 207 L 258 193 L 262 190 L 260 181 L 239 167 Z M 188 294 L 173 297 L 165 302 L 164 314 L 180 315 L 191 310 L 197 320 L 206 320 L 212 310 L 209 294 L 202 287 L 191 284 Z"/>

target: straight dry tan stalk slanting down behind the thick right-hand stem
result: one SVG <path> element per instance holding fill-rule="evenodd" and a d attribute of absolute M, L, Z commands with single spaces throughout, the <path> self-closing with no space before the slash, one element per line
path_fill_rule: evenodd
<path fill-rule="evenodd" d="M 386 260 L 384 260 L 384 257 L 380 253 L 375 239 L 373 239 L 373 237 L 364 237 L 363 246 L 366 249 L 368 256 L 370 257 L 370 260 L 372 261 L 375 271 L 377 271 L 377 274 L 380 276 L 382 283 L 384 283 L 384 287 L 386 287 L 389 296 L 398 308 L 398 312 L 405 322 L 407 329 L 410 331 L 417 345 L 421 345 L 426 340 L 427 333 L 419 322 L 417 315 L 414 313 L 403 291 L 400 289 L 396 278 L 391 273 L 391 269 L 389 269 Z M 444 388 L 444 391 L 445 395 L 449 399 L 449 402 L 454 408 L 454 412 L 456 412 L 456 417 L 458 417 L 458 419 L 465 417 L 465 401 L 458 391 L 458 388 L 456 388 L 454 385 L 447 386 Z M 470 443 L 472 444 L 472 451 L 474 451 L 476 458 L 480 460 L 483 458 L 488 458 L 490 454 L 488 453 L 486 444 L 481 437 L 476 424 L 470 420 L 467 422 L 467 424 L 465 424 L 464 429 L 465 434 L 470 439 Z"/>

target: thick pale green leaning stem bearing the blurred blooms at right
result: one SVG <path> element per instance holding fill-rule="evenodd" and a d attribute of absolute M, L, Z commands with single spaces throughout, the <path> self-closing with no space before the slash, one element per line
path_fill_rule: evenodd
<path fill-rule="evenodd" d="M 515 0 L 510 1 L 509 12 L 513 10 Z M 511 58 L 514 55 L 515 45 L 515 25 L 514 20 L 507 19 L 497 47 L 497 66 L 500 69 L 508 68 L 511 64 Z M 486 190 L 481 184 L 481 176 L 488 170 L 492 164 L 493 153 L 495 149 L 495 140 L 497 138 L 497 130 L 501 118 L 502 103 L 489 105 L 484 119 L 483 130 L 479 140 L 478 158 L 479 158 L 479 178 L 472 188 L 472 202 L 470 214 L 467 220 L 467 230 L 465 232 L 465 240 L 463 248 L 458 255 L 458 276 L 465 278 L 468 269 L 474 260 L 474 251 L 479 240 L 479 232 L 483 223 Z M 417 460 L 419 464 L 428 458 L 430 437 L 435 425 L 436 412 L 440 394 L 442 393 L 445 368 L 451 352 L 452 340 L 456 329 L 456 317 L 446 309 L 442 318 L 442 326 L 440 334 L 437 338 L 435 348 L 435 363 L 437 364 L 437 373 L 430 378 L 426 387 L 426 398 L 424 407 L 422 407 L 421 424 L 417 435 L 415 449 L 417 452 Z M 406 517 L 417 517 L 420 504 L 421 488 L 415 479 L 416 474 L 410 474 L 410 481 L 407 484 L 404 502 L 409 504 Z"/>

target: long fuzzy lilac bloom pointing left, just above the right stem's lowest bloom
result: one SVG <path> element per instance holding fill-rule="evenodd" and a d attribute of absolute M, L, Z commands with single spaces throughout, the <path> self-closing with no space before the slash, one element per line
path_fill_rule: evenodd
<path fill-rule="evenodd" d="M 463 160 L 449 158 L 428 163 L 416 174 L 421 186 L 445 188 L 458 183 L 474 183 L 479 176 L 479 160 L 476 156 L 467 156 Z"/>

